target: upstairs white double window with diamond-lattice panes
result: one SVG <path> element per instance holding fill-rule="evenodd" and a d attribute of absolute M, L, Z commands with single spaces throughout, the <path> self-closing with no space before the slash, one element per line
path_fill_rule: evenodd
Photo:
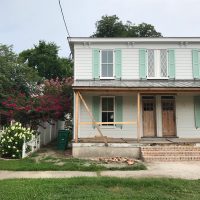
<path fill-rule="evenodd" d="M 148 50 L 148 78 L 167 78 L 167 50 Z"/>

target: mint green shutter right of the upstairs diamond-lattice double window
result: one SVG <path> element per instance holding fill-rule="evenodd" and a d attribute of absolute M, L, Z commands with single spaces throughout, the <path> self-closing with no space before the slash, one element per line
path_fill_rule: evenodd
<path fill-rule="evenodd" d="M 175 79 L 175 76 L 176 76 L 174 49 L 168 50 L 168 76 L 170 79 Z"/>

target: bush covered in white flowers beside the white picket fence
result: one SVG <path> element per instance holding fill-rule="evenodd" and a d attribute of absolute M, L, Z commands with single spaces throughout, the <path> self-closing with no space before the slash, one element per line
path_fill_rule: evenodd
<path fill-rule="evenodd" d="M 21 158 L 24 141 L 32 139 L 34 131 L 17 122 L 6 128 L 0 139 L 0 154 L 3 158 Z"/>

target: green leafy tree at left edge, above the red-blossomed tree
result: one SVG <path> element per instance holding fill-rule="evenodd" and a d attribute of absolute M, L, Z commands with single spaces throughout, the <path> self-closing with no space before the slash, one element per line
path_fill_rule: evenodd
<path fill-rule="evenodd" d="M 8 94 L 33 92 L 39 80 L 37 72 L 19 63 L 12 46 L 0 44 L 0 98 Z"/>

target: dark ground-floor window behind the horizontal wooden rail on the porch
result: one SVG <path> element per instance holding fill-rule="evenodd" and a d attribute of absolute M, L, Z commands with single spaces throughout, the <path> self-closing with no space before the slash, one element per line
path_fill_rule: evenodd
<path fill-rule="evenodd" d="M 114 122 L 114 97 L 102 97 L 101 110 L 102 122 Z M 114 126 L 114 124 L 103 124 L 103 126 Z"/>

